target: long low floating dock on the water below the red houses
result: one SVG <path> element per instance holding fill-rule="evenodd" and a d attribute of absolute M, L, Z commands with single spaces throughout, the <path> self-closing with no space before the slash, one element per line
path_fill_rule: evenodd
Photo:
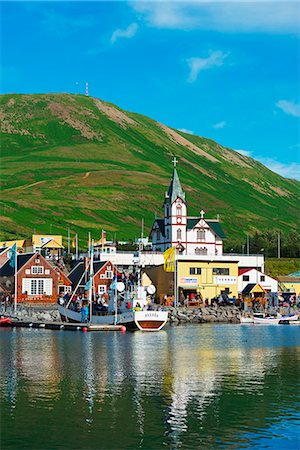
<path fill-rule="evenodd" d="M 124 325 L 101 325 L 88 323 L 70 323 L 70 322 L 41 322 L 41 321 L 25 321 L 11 319 L 11 323 L 3 324 L 2 327 L 15 328 L 39 328 L 47 330 L 66 330 L 66 331 L 126 331 Z"/>

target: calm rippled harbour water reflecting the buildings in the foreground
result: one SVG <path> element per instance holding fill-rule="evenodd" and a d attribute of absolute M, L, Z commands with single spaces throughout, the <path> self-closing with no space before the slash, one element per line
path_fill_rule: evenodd
<path fill-rule="evenodd" d="M 300 328 L 0 330 L 1 449 L 299 449 Z"/>

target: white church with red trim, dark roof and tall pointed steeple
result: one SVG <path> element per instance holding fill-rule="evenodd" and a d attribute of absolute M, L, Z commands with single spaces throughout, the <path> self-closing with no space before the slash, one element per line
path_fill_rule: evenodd
<path fill-rule="evenodd" d="M 173 163 L 173 176 L 163 204 L 164 218 L 155 219 L 150 232 L 153 250 L 164 252 L 175 246 L 184 255 L 222 255 L 225 234 L 219 220 L 205 219 L 203 210 L 200 217 L 188 217 L 176 158 Z"/>

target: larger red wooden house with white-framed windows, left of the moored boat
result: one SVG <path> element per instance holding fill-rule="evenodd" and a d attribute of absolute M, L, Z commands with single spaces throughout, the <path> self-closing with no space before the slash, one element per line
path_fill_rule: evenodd
<path fill-rule="evenodd" d="M 15 291 L 15 268 L 8 260 L 0 267 L 0 284 Z M 17 255 L 17 301 L 56 303 L 59 292 L 71 290 L 70 280 L 39 253 Z"/>

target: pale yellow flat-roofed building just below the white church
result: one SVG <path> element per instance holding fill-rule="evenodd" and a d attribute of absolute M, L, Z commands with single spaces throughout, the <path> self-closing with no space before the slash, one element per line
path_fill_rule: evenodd
<path fill-rule="evenodd" d="M 238 297 L 238 259 L 183 258 L 178 256 L 177 260 L 179 301 L 182 297 L 192 300 L 197 296 L 203 301 L 206 298 L 210 300 L 223 293 L 228 297 Z"/>

